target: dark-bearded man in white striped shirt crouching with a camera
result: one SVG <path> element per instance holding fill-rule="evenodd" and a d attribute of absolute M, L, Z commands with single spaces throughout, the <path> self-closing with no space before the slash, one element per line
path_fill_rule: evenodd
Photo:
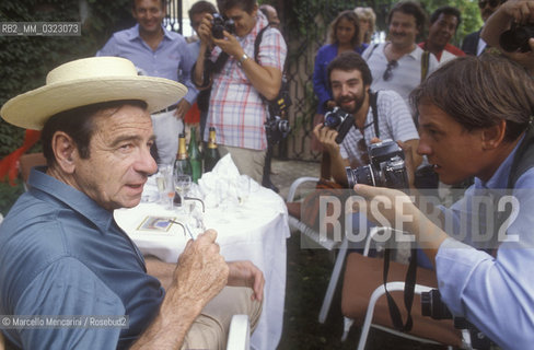
<path fill-rule="evenodd" d="M 345 167 L 367 164 L 367 147 L 381 140 L 402 141 L 405 149 L 411 148 L 417 166 L 421 161 L 415 153 L 419 144 L 419 135 L 399 94 L 391 90 L 372 92 L 371 70 L 361 56 L 353 51 L 336 57 L 328 65 L 327 72 L 336 104 L 355 118 L 353 127 L 340 144 L 335 141 L 338 135 L 335 129 L 320 124 L 313 130 L 329 153 L 330 172 L 336 183 L 346 186 Z"/>

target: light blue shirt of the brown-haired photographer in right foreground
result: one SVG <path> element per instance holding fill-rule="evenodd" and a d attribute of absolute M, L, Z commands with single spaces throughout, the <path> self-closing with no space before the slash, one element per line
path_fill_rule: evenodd
<path fill-rule="evenodd" d="M 442 208 L 445 218 L 454 222 L 453 229 L 463 223 L 456 232 L 465 235 L 463 241 L 477 244 L 486 240 L 481 230 L 472 230 L 472 223 L 479 221 L 479 212 L 466 212 L 465 208 L 476 196 L 490 196 L 488 203 L 498 206 L 516 149 L 488 182 L 476 178 L 462 200 L 449 210 Z M 512 195 L 518 200 L 512 206 L 516 218 L 508 223 L 506 240 L 499 240 L 503 242 L 496 258 L 448 238 L 438 250 L 436 267 L 441 298 L 454 315 L 465 316 L 503 349 L 531 349 L 534 343 L 534 168 L 518 179 Z M 491 211 L 483 218 L 490 214 Z M 496 235 L 498 229 L 506 228 L 502 224 L 489 233 Z M 483 224 L 481 229 L 485 228 Z"/>

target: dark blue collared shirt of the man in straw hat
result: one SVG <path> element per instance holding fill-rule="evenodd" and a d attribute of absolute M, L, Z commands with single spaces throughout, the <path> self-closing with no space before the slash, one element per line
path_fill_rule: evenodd
<path fill-rule="evenodd" d="M 156 316 L 164 290 L 113 213 L 33 168 L 0 225 L 1 315 L 128 315 L 129 328 L 4 329 L 23 349 L 123 349 Z"/>

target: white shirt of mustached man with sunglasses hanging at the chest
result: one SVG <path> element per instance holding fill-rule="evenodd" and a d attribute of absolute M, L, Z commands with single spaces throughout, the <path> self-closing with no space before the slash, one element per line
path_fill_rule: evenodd
<path fill-rule="evenodd" d="M 371 89 L 393 90 L 396 91 L 409 105 L 409 94 L 421 83 L 421 56 L 423 50 L 419 46 L 404 55 L 397 60 L 397 67 L 391 71 L 391 78 L 385 81 L 384 72 L 387 69 L 387 58 L 384 49 L 388 43 L 382 43 L 376 46 L 370 45 L 361 55 L 368 62 L 371 74 L 373 75 L 373 83 Z M 436 56 L 430 55 L 428 61 L 428 73 L 430 75 L 438 68 L 438 60 Z"/>

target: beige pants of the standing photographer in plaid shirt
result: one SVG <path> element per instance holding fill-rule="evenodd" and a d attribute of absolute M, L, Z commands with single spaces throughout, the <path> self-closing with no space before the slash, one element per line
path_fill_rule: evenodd
<path fill-rule="evenodd" d="M 264 178 L 265 154 L 267 150 L 258 151 L 251 149 L 241 149 L 237 147 L 219 144 L 219 152 L 221 158 L 230 153 L 232 161 L 242 175 L 248 175 L 256 183 L 262 185 Z"/>

